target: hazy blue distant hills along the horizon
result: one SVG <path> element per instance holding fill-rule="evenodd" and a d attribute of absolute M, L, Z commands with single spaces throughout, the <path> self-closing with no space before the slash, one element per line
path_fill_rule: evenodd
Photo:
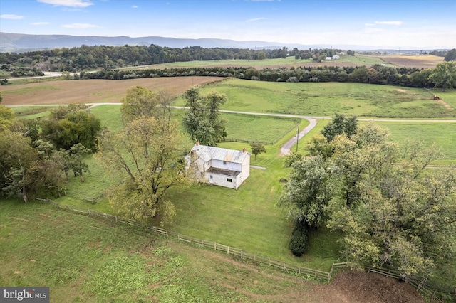
<path fill-rule="evenodd" d="M 138 37 L 128 36 L 103 37 L 103 36 L 70 36 L 70 35 L 28 35 L 24 33 L 0 32 L 0 52 L 21 53 L 31 50 L 46 50 L 52 48 L 73 48 L 86 46 L 157 46 L 169 48 L 185 48 L 187 46 L 201 46 L 202 48 L 249 48 L 249 49 L 276 49 L 286 47 L 289 50 L 309 48 L 338 48 L 342 50 L 378 50 L 395 49 L 393 46 L 353 46 L 353 45 L 304 45 L 266 41 L 234 41 L 228 39 L 200 38 L 183 39 L 168 37 Z M 414 48 L 410 48 L 414 49 Z M 404 53 L 405 50 L 402 50 Z"/>

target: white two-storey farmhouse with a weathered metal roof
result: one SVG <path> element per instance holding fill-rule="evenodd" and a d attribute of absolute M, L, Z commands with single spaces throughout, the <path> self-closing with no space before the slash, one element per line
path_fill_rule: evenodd
<path fill-rule="evenodd" d="M 197 142 L 185 156 L 187 175 L 197 182 L 238 188 L 250 175 L 250 156 L 245 149 L 208 147 Z"/>

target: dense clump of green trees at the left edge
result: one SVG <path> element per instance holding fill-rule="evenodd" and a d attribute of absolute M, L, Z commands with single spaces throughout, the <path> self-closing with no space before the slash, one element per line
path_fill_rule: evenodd
<path fill-rule="evenodd" d="M 28 202 L 65 195 L 70 172 L 84 181 L 85 156 L 97 149 L 100 129 L 86 105 L 57 107 L 42 120 L 15 119 L 0 106 L 0 196 Z"/>

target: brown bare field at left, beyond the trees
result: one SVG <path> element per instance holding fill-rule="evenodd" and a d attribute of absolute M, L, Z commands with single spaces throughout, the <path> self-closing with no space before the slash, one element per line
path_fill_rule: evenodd
<path fill-rule="evenodd" d="M 222 80 L 219 77 L 140 78 L 131 80 L 61 80 L 48 83 L 1 86 L 3 105 L 61 105 L 120 102 L 130 87 L 166 90 L 177 96 L 194 85 Z"/>

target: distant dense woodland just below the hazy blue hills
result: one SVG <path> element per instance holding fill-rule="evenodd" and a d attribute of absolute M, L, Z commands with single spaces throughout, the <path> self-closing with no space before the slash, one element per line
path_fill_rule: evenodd
<path fill-rule="evenodd" d="M 309 48 L 308 50 L 247 49 L 247 48 L 169 48 L 151 44 L 150 46 L 86 46 L 75 48 L 55 48 L 25 53 L 0 53 L 2 68 L 14 66 L 36 67 L 46 71 L 69 71 L 98 68 L 121 68 L 123 66 L 151 65 L 172 62 L 207 61 L 207 60 L 264 60 L 295 58 L 321 60 L 342 50 L 327 48 Z M 354 55 L 354 52 L 352 52 Z"/>

